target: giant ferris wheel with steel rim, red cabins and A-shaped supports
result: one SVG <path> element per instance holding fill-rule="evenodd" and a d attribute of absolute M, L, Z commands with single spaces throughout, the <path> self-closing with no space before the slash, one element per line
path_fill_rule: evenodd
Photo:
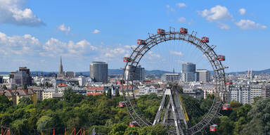
<path fill-rule="evenodd" d="M 184 27 L 181 27 L 179 31 L 176 31 L 174 28 L 169 28 L 169 31 L 165 31 L 163 29 L 158 29 L 157 34 L 148 34 L 146 39 L 138 39 L 135 49 L 132 50 L 132 53 L 129 57 L 124 57 L 124 62 L 126 63 L 124 68 L 124 75 L 122 78 L 122 94 L 124 97 L 124 101 L 121 103 L 121 107 L 126 107 L 129 115 L 134 120 L 131 122 L 132 126 L 138 127 L 145 127 L 154 124 L 165 124 L 165 117 L 163 117 L 163 123 L 160 122 L 162 109 L 165 107 L 165 98 L 169 96 L 169 103 L 167 105 L 167 109 L 171 109 L 173 117 L 172 125 L 175 126 L 175 134 L 196 134 L 205 127 L 213 124 L 212 120 L 218 117 L 220 114 L 221 106 L 223 101 L 226 101 L 226 79 L 225 79 L 225 72 L 224 67 L 222 65 L 222 61 L 225 60 L 225 56 L 217 55 L 214 52 L 215 46 L 210 46 L 207 43 L 209 42 L 208 37 L 202 37 L 199 39 L 196 37 L 197 32 L 188 33 L 188 30 Z M 186 124 L 186 119 L 188 115 L 186 110 L 181 106 L 181 98 L 179 97 L 179 93 L 174 90 L 174 84 L 168 84 L 167 88 L 165 88 L 165 92 L 160 103 L 160 108 L 155 116 L 154 122 L 150 122 L 150 120 L 146 119 L 146 117 L 141 113 L 138 105 L 136 104 L 135 98 L 135 89 L 134 89 L 134 82 L 131 79 L 131 76 L 134 75 L 136 68 L 139 66 L 140 61 L 142 60 L 143 56 L 146 56 L 146 53 L 150 52 L 154 46 L 158 46 L 163 42 L 167 41 L 184 41 L 187 44 L 191 44 L 198 49 L 205 58 L 207 58 L 210 66 L 212 67 L 213 79 L 214 79 L 214 98 L 212 99 L 212 105 L 209 108 L 209 111 L 203 115 L 203 119 L 200 122 L 197 122 L 193 126 L 190 124 Z M 168 111 L 165 112 L 167 115 Z M 183 128 L 184 127 L 184 128 Z"/>

